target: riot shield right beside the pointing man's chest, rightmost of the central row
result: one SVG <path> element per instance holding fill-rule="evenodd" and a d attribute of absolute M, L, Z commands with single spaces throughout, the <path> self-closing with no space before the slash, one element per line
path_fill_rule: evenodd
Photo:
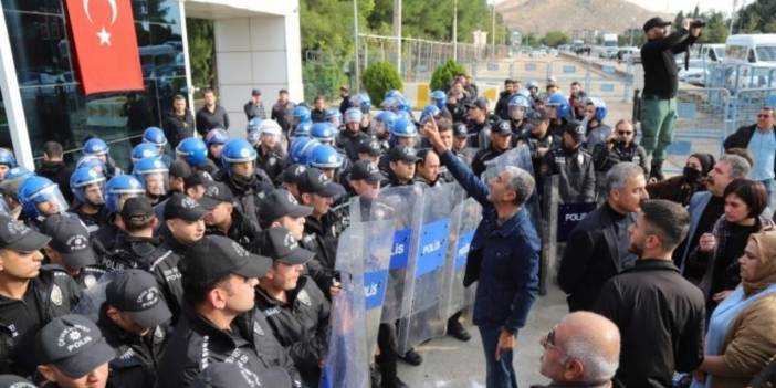
<path fill-rule="evenodd" d="M 458 198 L 457 198 L 458 199 Z M 442 291 L 442 302 L 444 316 L 452 316 L 474 301 L 476 283 L 469 287 L 463 286 L 463 276 L 466 270 L 469 248 L 474 231 L 482 220 L 482 206 L 473 198 L 463 199 L 452 211 L 450 217 L 450 238 L 448 242 L 448 260 L 444 273 L 444 286 Z"/>

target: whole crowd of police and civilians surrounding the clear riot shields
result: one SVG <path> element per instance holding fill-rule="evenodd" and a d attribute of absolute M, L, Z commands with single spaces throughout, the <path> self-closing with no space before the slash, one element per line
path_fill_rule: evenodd
<path fill-rule="evenodd" d="M 773 384 L 774 109 L 662 179 L 650 170 L 664 154 L 637 126 L 610 127 L 601 98 L 560 87 L 506 80 L 491 111 L 461 74 L 418 117 L 398 91 L 379 112 L 345 86 L 333 108 L 281 91 L 270 118 L 254 90 L 245 138 L 205 90 L 196 115 L 171 101 L 127 171 L 97 137 L 73 166 L 46 143 L 35 171 L 0 148 L 0 386 L 318 387 L 349 201 L 458 183 L 483 212 L 457 286 L 478 284 L 486 386 L 516 387 L 516 338 L 553 243 L 527 203 L 552 177 L 563 203 L 597 208 L 559 260 L 569 314 L 523 338 L 541 340 L 548 387 Z M 511 151 L 531 165 L 485 178 Z M 422 363 L 398 353 L 397 329 L 379 326 L 374 387 L 406 387 L 398 360 Z M 447 333 L 471 338 L 460 312 Z"/>

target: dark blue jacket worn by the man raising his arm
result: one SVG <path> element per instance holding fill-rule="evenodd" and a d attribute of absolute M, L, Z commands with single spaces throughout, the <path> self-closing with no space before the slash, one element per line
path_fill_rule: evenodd
<path fill-rule="evenodd" d="M 464 285 L 479 281 L 473 323 L 501 326 L 510 333 L 525 325 L 538 294 L 542 242 L 524 208 L 499 224 L 490 188 L 451 151 L 441 161 L 472 198 L 482 205 L 482 221 L 474 232 L 466 262 Z"/>

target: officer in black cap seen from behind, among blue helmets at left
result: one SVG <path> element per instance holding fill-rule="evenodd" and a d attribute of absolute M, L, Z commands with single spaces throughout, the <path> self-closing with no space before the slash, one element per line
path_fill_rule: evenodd
<path fill-rule="evenodd" d="M 108 272 L 129 269 L 147 269 L 169 251 L 161 239 L 154 237 L 158 221 L 148 199 L 129 198 L 119 213 L 124 228 L 116 235 L 113 250 L 103 258 L 103 268 Z"/>

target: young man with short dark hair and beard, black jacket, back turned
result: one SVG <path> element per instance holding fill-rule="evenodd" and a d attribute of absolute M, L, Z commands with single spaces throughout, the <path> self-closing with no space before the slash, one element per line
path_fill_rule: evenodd
<path fill-rule="evenodd" d="M 595 311 L 622 334 L 616 378 L 626 387 L 670 387 L 674 370 L 695 370 L 703 360 L 705 301 L 671 259 L 689 224 L 681 205 L 644 201 L 628 233 L 628 250 L 639 260 L 598 297 Z"/>

